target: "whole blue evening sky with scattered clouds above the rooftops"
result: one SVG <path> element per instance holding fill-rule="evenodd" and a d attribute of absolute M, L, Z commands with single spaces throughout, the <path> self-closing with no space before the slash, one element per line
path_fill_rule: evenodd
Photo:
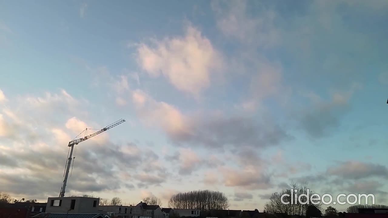
<path fill-rule="evenodd" d="M 388 204 L 387 21 L 385 0 L 0 1 L 0 192 L 58 196 L 68 142 L 123 118 L 76 145 L 65 196 Z"/>

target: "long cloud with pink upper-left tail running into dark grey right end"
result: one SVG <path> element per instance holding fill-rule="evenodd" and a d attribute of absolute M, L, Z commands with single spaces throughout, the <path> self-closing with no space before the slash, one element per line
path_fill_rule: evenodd
<path fill-rule="evenodd" d="M 186 116 L 176 107 L 152 99 L 142 90 L 132 92 L 132 100 L 147 126 L 159 126 L 177 145 L 268 147 L 291 139 L 270 118 L 255 120 L 242 115 L 203 114 Z"/>

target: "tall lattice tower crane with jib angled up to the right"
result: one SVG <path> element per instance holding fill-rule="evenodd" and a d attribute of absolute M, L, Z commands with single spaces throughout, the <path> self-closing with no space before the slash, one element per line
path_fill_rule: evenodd
<path fill-rule="evenodd" d="M 74 145 L 78 145 L 78 143 L 83 142 L 85 140 L 88 140 L 89 138 L 95 137 L 96 135 L 99 135 L 100 133 L 103 133 L 104 131 L 109 130 L 109 129 L 111 129 L 111 128 L 117 126 L 117 125 L 120 125 L 121 123 L 124 123 L 124 122 L 125 122 L 125 119 L 119 119 L 118 121 L 116 121 L 116 122 L 114 122 L 114 123 L 112 123 L 110 125 L 105 126 L 104 128 L 100 129 L 99 131 L 96 131 L 95 133 L 92 133 L 90 135 L 86 135 L 85 134 L 85 137 L 74 139 L 74 140 L 71 140 L 69 142 L 68 147 L 70 147 L 70 153 L 69 153 L 70 155 L 68 156 L 68 161 L 66 162 L 64 180 L 63 180 L 63 183 L 62 183 L 61 192 L 59 192 L 59 197 L 64 197 L 65 196 L 65 188 L 66 188 L 66 183 L 68 182 L 68 176 L 69 176 L 69 170 L 70 170 L 70 164 L 71 164 L 71 158 L 72 158 L 72 155 L 73 155 Z M 88 130 L 88 128 L 86 128 L 86 131 L 87 130 Z"/>

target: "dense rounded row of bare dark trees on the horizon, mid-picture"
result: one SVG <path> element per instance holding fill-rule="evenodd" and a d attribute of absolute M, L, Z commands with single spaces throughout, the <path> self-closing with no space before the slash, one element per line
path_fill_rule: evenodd
<path fill-rule="evenodd" d="M 199 209 L 208 211 L 212 209 L 227 209 L 228 197 L 222 192 L 211 190 L 195 190 L 178 193 L 171 196 L 168 206 L 174 209 Z"/>

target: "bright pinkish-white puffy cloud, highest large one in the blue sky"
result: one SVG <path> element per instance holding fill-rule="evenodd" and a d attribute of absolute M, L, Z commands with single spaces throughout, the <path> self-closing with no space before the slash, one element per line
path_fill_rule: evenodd
<path fill-rule="evenodd" d="M 150 76 L 165 76 L 175 88 L 196 97 L 210 86 L 212 74 L 222 66 L 220 53 L 192 26 L 186 28 L 184 37 L 140 44 L 137 61 Z"/>

